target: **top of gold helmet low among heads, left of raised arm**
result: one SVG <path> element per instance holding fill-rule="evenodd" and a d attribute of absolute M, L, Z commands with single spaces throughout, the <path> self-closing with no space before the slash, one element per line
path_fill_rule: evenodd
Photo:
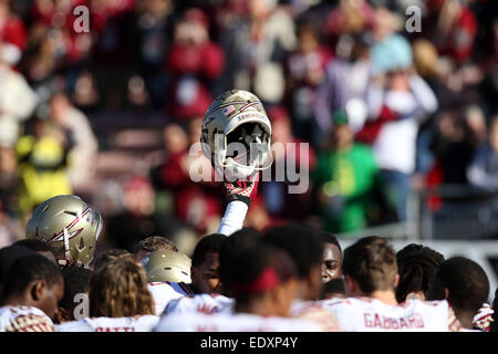
<path fill-rule="evenodd" d="M 191 260 L 180 253 L 166 250 L 151 252 L 142 259 L 149 283 L 156 281 L 184 282 L 189 284 Z"/>

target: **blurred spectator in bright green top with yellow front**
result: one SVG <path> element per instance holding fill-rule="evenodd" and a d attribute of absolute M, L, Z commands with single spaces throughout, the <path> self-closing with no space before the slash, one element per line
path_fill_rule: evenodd
<path fill-rule="evenodd" d="M 372 149 L 355 143 L 344 111 L 333 115 L 332 148 L 319 155 L 314 192 L 323 229 L 346 232 L 367 226 L 367 209 L 377 176 Z"/>

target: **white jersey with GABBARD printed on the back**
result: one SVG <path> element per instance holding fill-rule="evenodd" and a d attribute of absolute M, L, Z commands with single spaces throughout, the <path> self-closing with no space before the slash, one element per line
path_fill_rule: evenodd
<path fill-rule="evenodd" d="M 387 305 L 371 298 L 345 298 L 319 303 L 332 313 L 344 332 L 448 332 L 461 329 L 445 300 L 407 300 Z"/>

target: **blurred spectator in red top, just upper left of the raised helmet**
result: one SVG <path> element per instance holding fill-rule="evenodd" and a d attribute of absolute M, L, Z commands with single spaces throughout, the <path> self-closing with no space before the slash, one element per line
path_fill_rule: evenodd
<path fill-rule="evenodd" d="M 167 111 L 178 119 L 204 115 L 211 104 L 210 84 L 225 65 L 222 49 L 209 39 L 209 19 L 199 9 L 185 12 L 174 30 L 166 58 L 173 75 Z"/>

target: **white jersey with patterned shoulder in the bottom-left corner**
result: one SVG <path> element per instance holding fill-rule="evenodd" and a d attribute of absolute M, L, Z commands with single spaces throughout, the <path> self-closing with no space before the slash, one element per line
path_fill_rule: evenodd
<path fill-rule="evenodd" d="M 0 308 L 0 332 L 55 332 L 52 320 L 33 306 Z"/>

